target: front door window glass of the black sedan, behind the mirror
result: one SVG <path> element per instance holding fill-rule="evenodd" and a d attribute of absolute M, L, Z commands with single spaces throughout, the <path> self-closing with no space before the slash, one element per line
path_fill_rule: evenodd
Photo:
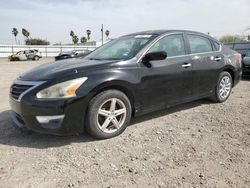
<path fill-rule="evenodd" d="M 168 57 L 185 55 L 186 50 L 183 35 L 173 34 L 160 39 L 148 53 L 160 51 L 166 52 Z"/>

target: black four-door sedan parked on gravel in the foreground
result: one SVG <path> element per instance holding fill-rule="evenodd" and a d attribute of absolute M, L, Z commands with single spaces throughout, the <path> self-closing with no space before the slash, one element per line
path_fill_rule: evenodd
<path fill-rule="evenodd" d="M 161 30 L 126 35 L 85 58 L 45 64 L 17 78 L 11 116 L 49 134 L 121 134 L 131 117 L 210 98 L 224 102 L 241 78 L 241 55 L 210 36 Z"/>

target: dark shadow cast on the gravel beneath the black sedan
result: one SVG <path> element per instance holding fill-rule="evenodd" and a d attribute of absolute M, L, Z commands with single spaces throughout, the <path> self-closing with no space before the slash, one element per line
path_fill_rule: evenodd
<path fill-rule="evenodd" d="M 199 100 L 135 117 L 131 121 L 131 126 L 147 120 L 210 103 L 211 102 L 208 100 Z M 0 113 L 0 144 L 2 145 L 45 149 L 69 145 L 71 143 L 98 142 L 98 140 L 91 138 L 85 133 L 78 136 L 54 136 L 39 134 L 31 131 L 22 131 L 14 125 L 9 112 L 10 111 L 7 110 Z"/>

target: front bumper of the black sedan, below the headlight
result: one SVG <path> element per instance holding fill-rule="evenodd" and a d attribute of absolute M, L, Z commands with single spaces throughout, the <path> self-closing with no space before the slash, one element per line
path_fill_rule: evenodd
<path fill-rule="evenodd" d="M 84 132 L 87 97 L 42 101 L 30 91 L 19 100 L 10 95 L 9 102 L 11 117 L 18 127 L 54 135 Z"/>

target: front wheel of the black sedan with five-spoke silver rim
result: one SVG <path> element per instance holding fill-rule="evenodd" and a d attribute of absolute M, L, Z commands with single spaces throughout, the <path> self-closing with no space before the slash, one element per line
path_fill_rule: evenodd
<path fill-rule="evenodd" d="M 115 104 L 113 105 L 114 108 L 112 104 Z M 118 113 L 122 114 L 115 115 Z M 131 104 L 124 93 L 118 90 L 103 91 L 89 103 L 86 116 L 86 131 L 96 139 L 108 139 L 118 136 L 130 123 L 131 114 Z"/>

